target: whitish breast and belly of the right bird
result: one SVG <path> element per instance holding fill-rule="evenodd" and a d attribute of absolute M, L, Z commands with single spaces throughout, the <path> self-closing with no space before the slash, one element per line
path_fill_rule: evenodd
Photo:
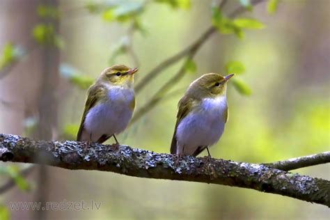
<path fill-rule="evenodd" d="M 178 125 L 176 138 L 177 153 L 191 155 L 198 146 L 212 146 L 219 141 L 225 121 L 226 97 L 205 98 L 201 107 L 189 113 Z"/>

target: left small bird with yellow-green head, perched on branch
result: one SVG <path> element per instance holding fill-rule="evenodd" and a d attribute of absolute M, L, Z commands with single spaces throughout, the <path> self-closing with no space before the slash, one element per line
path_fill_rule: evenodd
<path fill-rule="evenodd" d="M 123 132 L 132 118 L 135 107 L 134 73 L 125 65 L 106 68 L 88 89 L 77 141 L 103 143 Z"/>

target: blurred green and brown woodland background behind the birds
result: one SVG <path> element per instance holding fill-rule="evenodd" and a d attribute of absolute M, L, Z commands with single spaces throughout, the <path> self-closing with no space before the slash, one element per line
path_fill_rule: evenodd
<path fill-rule="evenodd" d="M 104 68 L 124 63 L 140 68 L 140 88 L 136 118 L 118 136 L 120 143 L 169 152 L 177 103 L 189 83 L 207 72 L 235 72 L 228 86 L 229 120 L 210 149 L 212 157 L 267 163 L 328 151 L 330 1 L 230 0 L 219 10 L 220 2 L 0 0 L 0 133 L 74 139 L 86 89 Z M 230 13 L 236 10 L 235 20 Z M 225 19 L 230 25 L 221 23 Z M 182 54 L 141 86 L 151 70 L 212 24 L 217 31 L 194 58 Z M 162 90 L 182 67 L 178 80 Z M 155 94 L 160 102 L 152 102 Z M 329 168 L 292 172 L 329 180 Z M 1 187 L 10 178 L 15 184 Z M 13 201 L 64 200 L 102 204 L 100 210 L 83 211 L 9 207 Z M 323 205 L 251 189 L 0 163 L 0 219 L 328 219 L 329 214 Z"/>

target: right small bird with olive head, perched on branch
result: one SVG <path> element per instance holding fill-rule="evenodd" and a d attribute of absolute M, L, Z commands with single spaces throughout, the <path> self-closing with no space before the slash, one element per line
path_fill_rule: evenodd
<path fill-rule="evenodd" d="M 219 141 L 227 122 L 227 81 L 233 75 L 207 73 L 189 85 L 178 104 L 171 154 L 196 157 L 206 148 L 211 157 L 208 147 Z"/>

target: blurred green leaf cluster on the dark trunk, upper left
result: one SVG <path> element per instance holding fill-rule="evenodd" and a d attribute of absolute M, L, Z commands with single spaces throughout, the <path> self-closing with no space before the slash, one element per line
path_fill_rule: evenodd
<path fill-rule="evenodd" d="M 63 41 L 59 38 L 52 24 L 37 24 L 33 28 L 33 38 L 40 45 L 51 45 L 55 47 L 63 47 Z"/>

